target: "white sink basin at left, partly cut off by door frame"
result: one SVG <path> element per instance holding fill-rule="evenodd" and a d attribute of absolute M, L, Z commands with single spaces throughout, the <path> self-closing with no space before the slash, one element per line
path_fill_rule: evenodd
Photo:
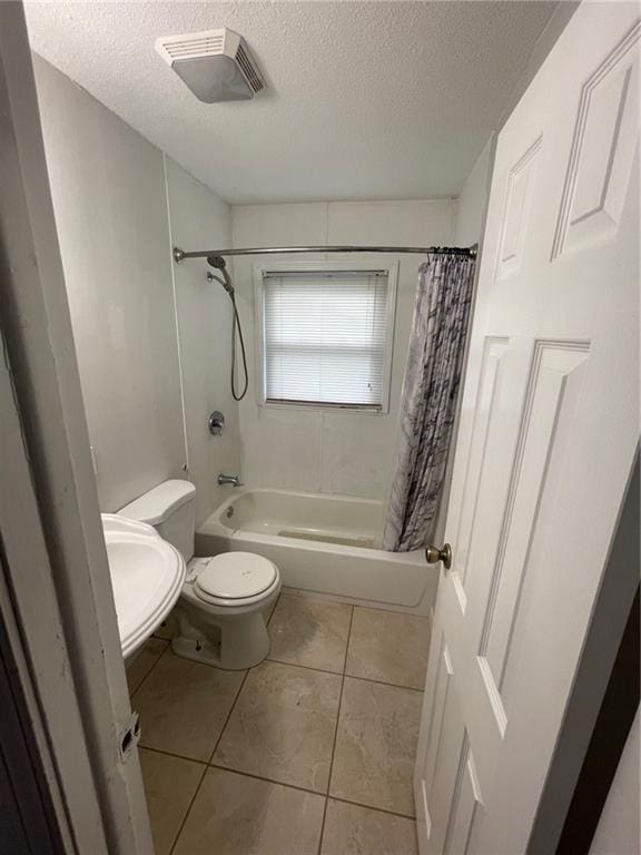
<path fill-rule="evenodd" d="M 183 556 L 151 525 L 111 513 L 101 517 L 122 656 L 128 658 L 169 615 L 187 570 Z"/>

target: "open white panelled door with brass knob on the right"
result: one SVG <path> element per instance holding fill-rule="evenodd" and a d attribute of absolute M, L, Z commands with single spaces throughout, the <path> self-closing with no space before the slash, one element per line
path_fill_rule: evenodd
<path fill-rule="evenodd" d="M 525 852 L 639 435 L 639 10 L 503 128 L 415 774 L 422 853 Z"/>

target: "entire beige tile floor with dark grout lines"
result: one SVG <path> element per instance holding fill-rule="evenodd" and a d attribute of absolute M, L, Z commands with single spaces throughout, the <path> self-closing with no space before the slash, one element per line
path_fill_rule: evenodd
<path fill-rule="evenodd" d="M 128 669 L 157 855 L 415 855 L 426 618 L 282 594 L 248 671 Z"/>

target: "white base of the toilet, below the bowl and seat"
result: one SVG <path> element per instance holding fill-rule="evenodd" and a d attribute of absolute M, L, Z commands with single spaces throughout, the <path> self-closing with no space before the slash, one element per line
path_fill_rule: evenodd
<path fill-rule="evenodd" d="M 205 620 L 191 612 L 183 605 L 177 609 L 178 632 L 171 640 L 176 656 L 236 671 L 258 665 L 269 652 L 260 610 L 230 618 L 207 615 Z"/>

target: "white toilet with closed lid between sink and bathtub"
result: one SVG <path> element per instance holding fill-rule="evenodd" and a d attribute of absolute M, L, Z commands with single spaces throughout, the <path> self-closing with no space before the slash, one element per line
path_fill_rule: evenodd
<path fill-rule="evenodd" d="M 269 652 L 264 612 L 280 591 L 276 564 L 253 552 L 194 558 L 196 488 L 189 481 L 165 481 L 118 513 L 152 525 L 187 562 L 174 652 L 229 670 L 263 661 Z"/>

